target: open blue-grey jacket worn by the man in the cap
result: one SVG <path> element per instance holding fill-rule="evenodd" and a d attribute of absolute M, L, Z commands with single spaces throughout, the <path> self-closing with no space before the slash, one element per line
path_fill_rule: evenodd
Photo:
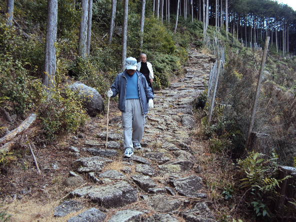
<path fill-rule="evenodd" d="M 142 108 L 142 113 L 147 114 L 148 113 L 148 99 L 153 99 L 153 93 L 151 87 L 148 86 L 147 80 L 145 76 L 140 73 L 138 70 L 135 71 L 135 73 L 138 77 L 137 80 L 137 87 L 139 90 L 139 96 L 140 96 L 140 103 Z M 126 70 L 119 73 L 114 81 L 114 83 L 111 85 L 111 90 L 113 91 L 113 95 L 111 97 L 115 97 L 117 94 L 119 94 L 119 101 L 118 101 L 118 108 L 120 111 L 125 112 L 125 95 L 126 95 L 126 77 L 128 73 Z"/>

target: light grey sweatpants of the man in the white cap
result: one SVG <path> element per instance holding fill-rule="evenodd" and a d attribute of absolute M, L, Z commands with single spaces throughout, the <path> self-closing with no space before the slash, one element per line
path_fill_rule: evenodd
<path fill-rule="evenodd" d="M 121 112 L 123 125 L 123 147 L 132 148 L 132 142 L 140 142 L 144 134 L 145 115 L 140 99 L 126 99 L 125 112 Z"/>

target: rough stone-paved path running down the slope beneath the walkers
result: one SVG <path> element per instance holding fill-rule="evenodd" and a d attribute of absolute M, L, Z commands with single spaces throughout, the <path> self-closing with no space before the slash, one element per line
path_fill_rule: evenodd
<path fill-rule="evenodd" d="M 94 207 L 68 221 L 215 221 L 205 203 L 207 194 L 189 136 L 194 126 L 192 101 L 204 90 L 209 59 L 191 50 L 185 76 L 157 91 L 146 117 L 143 148 L 130 158 L 122 157 L 118 117 L 110 120 L 107 150 L 106 133 L 85 141 L 83 149 L 89 156 L 74 161 L 68 180 L 87 175 L 90 182 L 73 190 L 70 196 L 78 198 L 61 203 L 56 216 L 81 209 L 80 199 L 86 198 Z M 70 149 L 78 155 L 82 148 Z"/>

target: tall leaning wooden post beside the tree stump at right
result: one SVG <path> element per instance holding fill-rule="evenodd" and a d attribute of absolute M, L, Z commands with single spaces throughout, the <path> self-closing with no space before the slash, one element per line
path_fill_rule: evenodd
<path fill-rule="evenodd" d="M 261 67 L 260 67 L 259 77 L 258 77 L 258 81 L 257 81 L 256 94 L 255 94 L 255 97 L 254 97 L 251 119 L 250 119 L 250 123 L 249 123 L 248 130 L 247 130 L 245 149 L 247 149 L 247 146 L 249 144 L 250 134 L 251 134 L 251 131 L 252 131 L 252 128 L 253 128 L 254 120 L 255 120 L 257 100 L 258 100 L 258 97 L 259 97 L 259 92 L 260 92 L 260 87 L 261 87 L 261 80 L 262 80 L 263 69 L 264 69 L 265 61 L 266 61 L 269 38 L 270 37 L 267 36 L 266 39 L 265 39 L 264 51 L 263 51 L 262 60 L 261 60 Z"/>

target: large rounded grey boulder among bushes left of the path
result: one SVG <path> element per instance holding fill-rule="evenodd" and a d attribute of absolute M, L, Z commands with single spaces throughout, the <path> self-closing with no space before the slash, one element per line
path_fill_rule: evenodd
<path fill-rule="evenodd" d="M 95 116 L 97 113 L 104 111 L 104 101 L 101 95 L 92 87 L 89 87 L 81 82 L 74 82 L 69 85 L 69 88 L 78 92 L 82 98 L 83 106 L 88 115 Z"/>

